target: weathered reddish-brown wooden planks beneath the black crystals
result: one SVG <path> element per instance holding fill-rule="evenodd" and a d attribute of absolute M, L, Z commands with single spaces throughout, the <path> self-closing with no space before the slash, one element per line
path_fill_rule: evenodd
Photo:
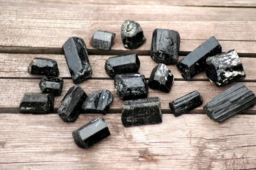
<path fill-rule="evenodd" d="M 198 90 L 204 104 L 231 87 L 216 87 L 205 73 L 184 81 L 175 65 L 170 93 L 149 89 L 161 99 L 163 123 L 125 128 L 122 101 L 113 79 L 104 70 L 110 56 L 136 52 L 140 73 L 149 78 L 158 63 L 150 56 L 152 32 L 172 29 L 181 37 L 180 59 L 215 36 L 223 51 L 236 49 L 256 92 L 255 0 L 0 0 L 0 169 L 253 169 L 256 168 L 256 107 L 219 124 L 202 106 L 174 117 L 168 103 Z M 137 21 L 146 42 L 136 50 L 123 47 L 120 29 L 124 20 Z M 116 33 L 110 51 L 90 45 L 96 30 Z M 61 49 L 71 36 L 82 38 L 88 48 L 92 77 L 80 83 L 84 91 L 107 88 L 114 102 L 104 115 L 111 135 L 89 149 L 79 148 L 72 131 L 101 117 L 81 114 L 65 123 L 56 114 L 67 90 L 73 86 Z M 64 78 L 62 95 L 55 98 L 51 114 L 19 114 L 25 92 L 40 92 L 38 75 L 29 75 L 33 57 L 53 58 Z"/>

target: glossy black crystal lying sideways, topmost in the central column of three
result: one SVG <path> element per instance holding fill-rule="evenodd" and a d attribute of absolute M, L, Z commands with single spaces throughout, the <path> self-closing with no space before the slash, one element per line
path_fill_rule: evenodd
<path fill-rule="evenodd" d="M 105 63 L 105 70 L 110 77 L 116 74 L 137 73 L 140 69 L 140 60 L 136 53 L 109 57 Z"/>

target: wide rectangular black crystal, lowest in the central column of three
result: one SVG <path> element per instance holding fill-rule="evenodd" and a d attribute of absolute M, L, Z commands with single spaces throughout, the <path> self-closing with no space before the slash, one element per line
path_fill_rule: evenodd
<path fill-rule="evenodd" d="M 124 102 L 121 120 L 124 127 L 162 123 L 160 99 L 151 97 Z"/>

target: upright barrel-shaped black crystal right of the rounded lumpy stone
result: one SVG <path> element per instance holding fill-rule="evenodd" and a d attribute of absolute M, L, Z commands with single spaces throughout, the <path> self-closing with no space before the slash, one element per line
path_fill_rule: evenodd
<path fill-rule="evenodd" d="M 151 58 L 166 65 L 177 64 L 180 50 L 180 35 L 177 31 L 155 29 L 151 43 Z"/>

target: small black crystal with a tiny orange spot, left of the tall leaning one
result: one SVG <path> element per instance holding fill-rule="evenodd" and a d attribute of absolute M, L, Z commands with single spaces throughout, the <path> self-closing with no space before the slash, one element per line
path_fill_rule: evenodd
<path fill-rule="evenodd" d="M 56 60 L 48 58 L 33 58 L 28 66 L 28 73 L 54 77 L 60 74 Z"/>

